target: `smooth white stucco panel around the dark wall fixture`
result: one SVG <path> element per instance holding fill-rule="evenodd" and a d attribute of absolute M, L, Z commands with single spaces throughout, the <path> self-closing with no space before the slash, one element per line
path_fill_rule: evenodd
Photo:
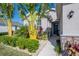
<path fill-rule="evenodd" d="M 71 19 L 67 18 L 70 11 L 74 11 Z M 79 36 L 79 4 L 68 4 L 63 6 L 63 32 L 66 36 Z"/>

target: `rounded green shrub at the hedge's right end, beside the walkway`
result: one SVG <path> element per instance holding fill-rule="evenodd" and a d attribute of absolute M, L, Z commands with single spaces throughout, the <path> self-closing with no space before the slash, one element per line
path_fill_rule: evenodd
<path fill-rule="evenodd" d="M 36 50 L 39 47 L 39 42 L 37 40 L 29 39 L 28 40 L 28 51 L 33 53 L 36 52 Z"/>

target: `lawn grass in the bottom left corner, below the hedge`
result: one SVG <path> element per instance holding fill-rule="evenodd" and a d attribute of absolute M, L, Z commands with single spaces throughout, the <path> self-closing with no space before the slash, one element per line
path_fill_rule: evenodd
<path fill-rule="evenodd" d="M 29 55 L 0 44 L 0 56 L 29 56 Z"/>

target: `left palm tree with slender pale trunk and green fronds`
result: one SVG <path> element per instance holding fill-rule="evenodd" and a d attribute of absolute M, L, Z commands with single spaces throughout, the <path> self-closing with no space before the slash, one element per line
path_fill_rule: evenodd
<path fill-rule="evenodd" d="M 8 25 L 8 35 L 12 36 L 12 15 L 13 15 L 13 4 L 11 3 L 4 3 L 0 4 L 0 7 L 2 9 L 2 13 L 4 16 L 7 16 L 7 25 Z"/>

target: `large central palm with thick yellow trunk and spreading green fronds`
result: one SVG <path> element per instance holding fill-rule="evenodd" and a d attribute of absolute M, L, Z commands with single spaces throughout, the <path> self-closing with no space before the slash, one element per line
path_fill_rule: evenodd
<path fill-rule="evenodd" d="M 25 19 L 26 16 L 26 11 L 29 11 L 29 17 L 28 17 L 28 22 L 29 22 L 29 34 L 30 34 L 30 38 L 31 39 L 36 39 L 37 37 L 37 31 L 34 25 L 34 22 L 36 21 L 37 17 L 40 16 L 44 17 L 46 11 L 48 10 L 48 4 L 39 4 L 39 10 L 36 12 L 35 7 L 36 4 L 35 3 L 28 3 L 28 4 L 20 4 L 22 6 L 22 8 L 20 9 L 20 16 Z M 26 8 L 23 8 L 23 6 L 27 6 L 27 10 Z"/>

